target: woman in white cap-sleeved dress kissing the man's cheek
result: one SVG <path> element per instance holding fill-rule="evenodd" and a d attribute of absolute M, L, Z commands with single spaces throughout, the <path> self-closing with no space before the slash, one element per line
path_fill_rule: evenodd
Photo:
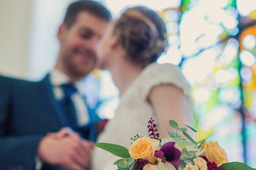
<path fill-rule="evenodd" d="M 134 135 L 148 135 L 150 118 L 156 121 L 161 137 L 168 137 L 170 119 L 191 124 L 190 85 L 178 67 L 156 63 L 166 47 L 165 24 L 147 7 L 128 8 L 109 24 L 97 46 L 97 57 L 120 90 L 120 105 L 98 142 L 128 147 Z M 92 169 L 115 169 L 115 160 L 95 148 Z"/>

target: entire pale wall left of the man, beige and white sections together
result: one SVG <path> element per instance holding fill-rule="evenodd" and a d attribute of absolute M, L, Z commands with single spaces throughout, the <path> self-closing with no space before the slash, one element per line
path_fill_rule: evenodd
<path fill-rule="evenodd" d="M 41 79 L 53 67 L 57 28 L 74 0 L 0 0 L 0 74 Z"/>

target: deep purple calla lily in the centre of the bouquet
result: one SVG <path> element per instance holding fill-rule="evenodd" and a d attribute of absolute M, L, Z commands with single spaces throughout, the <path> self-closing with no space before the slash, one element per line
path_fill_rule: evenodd
<path fill-rule="evenodd" d="M 174 142 L 163 144 L 160 150 L 156 150 L 155 156 L 159 157 L 163 162 L 171 163 L 176 169 L 178 169 L 181 162 L 181 152 L 176 149 Z"/>

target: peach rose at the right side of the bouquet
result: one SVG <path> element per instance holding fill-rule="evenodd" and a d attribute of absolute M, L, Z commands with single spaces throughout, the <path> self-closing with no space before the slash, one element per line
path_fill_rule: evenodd
<path fill-rule="evenodd" d="M 223 165 L 223 163 L 227 163 L 227 154 L 217 142 L 205 142 L 203 150 L 205 150 L 205 152 L 202 154 L 202 156 L 206 156 L 210 162 L 215 162 L 218 166 Z"/>

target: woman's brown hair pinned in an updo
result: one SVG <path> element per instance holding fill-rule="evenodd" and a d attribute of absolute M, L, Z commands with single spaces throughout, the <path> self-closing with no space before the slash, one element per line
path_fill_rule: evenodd
<path fill-rule="evenodd" d="M 142 67 L 156 61 L 167 48 L 164 21 L 147 7 L 127 8 L 115 21 L 114 33 L 120 35 L 130 61 Z"/>

